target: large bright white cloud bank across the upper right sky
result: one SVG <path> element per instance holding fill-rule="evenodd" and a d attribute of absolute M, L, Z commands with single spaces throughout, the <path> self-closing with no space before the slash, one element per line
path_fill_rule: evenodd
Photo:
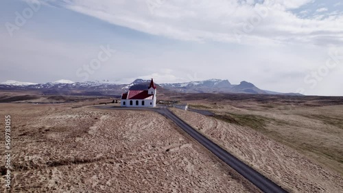
<path fill-rule="evenodd" d="M 300 18 L 289 11 L 312 3 L 312 0 L 161 2 L 153 12 L 144 0 L 75 0 L 69 1 L 66 8 L 147 34 L 199 42 L 255 44 L 263 40 L 268 44 L 284 40 L 287 43 L 289 36 L 296 36 L 294 42 L 314 44 L 320 36 L 308 38 L 308 34 L 320 33 L 326 37 L 343 34 L 341 27 L 336 25 L 343 21 L 342 14 L 335 18 Z M 317 10 L 324 11 L 327 8 Z"/>

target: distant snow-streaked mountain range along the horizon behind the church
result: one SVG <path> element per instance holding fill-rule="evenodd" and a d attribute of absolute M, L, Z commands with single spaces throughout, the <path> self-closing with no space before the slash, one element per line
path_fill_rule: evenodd
<path fill-rule="evenodd" d="M 30 83 L 20 81 L 5 81 L 0 83 L 0 90 L 38 90 L 43 94 L 73 94 L 73 95 L 120 95 L 131 90 L 145 89 L 150 80 L 136 79 L 132 83 L 115 83 L 108 80 L 73 82 L 61 79 L 49 83 Z M 295 93 L 280 93 L 261 90 L 254 84 L 241 81 L 238 85 L 228 80 L 209 79 L 204 81 L 190 81 L 186 83 L 159 83 L 156 84 L 159 92 L 181 93 L 245 93 L 245 94 L 285 94 L 301 95 Z"/>

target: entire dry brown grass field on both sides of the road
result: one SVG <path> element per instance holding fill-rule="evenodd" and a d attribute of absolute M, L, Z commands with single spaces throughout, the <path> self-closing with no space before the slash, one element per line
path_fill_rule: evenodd
<path fill-rule="evenodd" d="M 341 98 L 186 94 L 163 99 L 213 112 L 209 117 L 171 108 L 285 190 L 343 192 Z M 7 103 L 0 103 L 0 127 L 5 114 L 12 116 L 11 191 L 259 192 L 167 118 L 93 106 L 112 100 L 1 91 L 0 102 Z M 3 163 L 1 156 L 2 176 Z"/>

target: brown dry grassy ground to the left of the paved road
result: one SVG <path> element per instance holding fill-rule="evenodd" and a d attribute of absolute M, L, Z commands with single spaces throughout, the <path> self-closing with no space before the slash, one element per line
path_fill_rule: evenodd
<path fill-rule="evenodd" d="M 159 114 L 84 105 L 0 104 L 0 127 L 12 117 L 10 192 L 259 192 Z"/>

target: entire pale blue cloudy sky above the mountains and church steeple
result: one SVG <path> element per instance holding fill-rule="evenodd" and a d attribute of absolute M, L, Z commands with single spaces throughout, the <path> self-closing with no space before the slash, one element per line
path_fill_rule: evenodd
<path fill-rule="evenodd" d="M 1 0 L 0 82 L 228 79 L 343 96 L 339 0 Z"/>

